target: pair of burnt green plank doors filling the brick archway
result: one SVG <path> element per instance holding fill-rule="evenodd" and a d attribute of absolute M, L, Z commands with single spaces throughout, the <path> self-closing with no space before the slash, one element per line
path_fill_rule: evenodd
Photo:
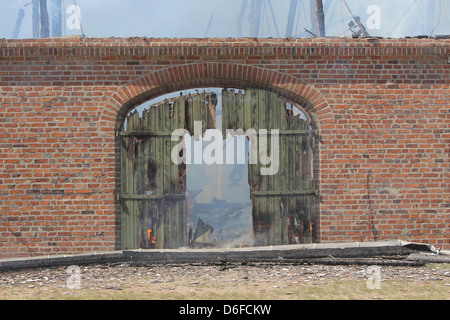
<path fill-rule="evenodd" d="M 124 249 L 221 245 L 220 229 L 198 219 L 193 230 L 189 222 L 192 195 L 187 190 L 189 160 L 182 139 L 186 132 L 199 140 L 208 136 L 208 130 L 218 130 L 218 96 L 223 104 L 222 125 L 220 134 L 210 134 L 213 141 L 223 145 L 227 136 L 243 136 L 247 141 L 251 241 L 246 243 L 313 241 L 315 130 L 303 111 L 308 106 L 289 103 L 265 90 L 223 89 L 218 95 L 203 92 L 165 100 L 127 117 L 126 127 L 118 134 Z M 219 149 L 208 150 L 206 154 L 214 159 L 206 162 L 220 162 Z M 204 156 L 205 150 L 201 153 Z M 221 154 L 225 162 L 227 155 Z"/>

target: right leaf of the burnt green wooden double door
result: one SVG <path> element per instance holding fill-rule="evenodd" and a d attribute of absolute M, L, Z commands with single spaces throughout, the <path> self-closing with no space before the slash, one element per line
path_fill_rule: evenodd
<path fill-rule="evenodd" d="M 295 115 L 293 108 L 276 94 L 246 89 L 245 93 L 223 90 L 223 131 L 254 130 L 258 159 L 249 160 L 255 245 L 311 243 L 315 232 L 316 188 L 313 179 L 314 131 L 309 121 Z M 261 174 L 260 129 L 268 130 L 267 152 L 273 152 L 271 139 L 278 140 L 279 166 L 276 174 Z M 278 137 L 271 135 L 278 129 Z M 250 150 L 252 147 L 250 147 Z M 272 150 L 271 150 L 272 149 Z M 250 151 L 251 152 L 251 151 Z M 273 156 L 273 155 L 272 155 Z M 249 159 L 252 157 L 249 156 Z"/>

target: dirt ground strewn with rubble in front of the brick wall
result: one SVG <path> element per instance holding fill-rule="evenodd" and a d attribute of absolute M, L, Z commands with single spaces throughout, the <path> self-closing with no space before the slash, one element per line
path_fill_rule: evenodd
<path fill-rule="evenodd" d="M 379 269 L 263 263 L 55 267 L 0 272 L 0 299 L 450 300 L 450 264 Z"/>

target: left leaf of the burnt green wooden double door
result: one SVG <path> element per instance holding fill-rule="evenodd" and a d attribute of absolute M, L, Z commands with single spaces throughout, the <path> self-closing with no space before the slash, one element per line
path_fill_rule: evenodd
<path fill-rule="evenodd" d="M 186 246 L 186 164 L 174 163 L 172 150 L 182 142 L 172 133 L 194 133 L 202 121 L 201 134 L 215 123 L 211 95 L 179 97 L 127 117 L 118 132 L 121 144 L 122 248 L 156 249 Z"/>

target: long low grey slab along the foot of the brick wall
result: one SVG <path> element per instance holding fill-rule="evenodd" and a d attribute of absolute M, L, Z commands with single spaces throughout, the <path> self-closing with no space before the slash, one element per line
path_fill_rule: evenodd
<path fill-rule="evenodd" d="M 326 263 L 326 264 L 383 264 L 386 259 L 399 264 L 417 265 L 419 260 L 408 260 L 411 254 L 435 255 L 437 250 L 421 243 L 395 241 L 315 243 L 301 245 L 214 248 L 121 250 L 74 255 L 48 255 L 0 260 L 0 271 L 48 268 L 70 265 L 105 263 L 145 264 L 223 264 L 223 263 Z M 381 259 L 381 257 L 384 258 Z M 400 259 L 401 258 L 401 259 Z M 384 262 L 383 262 L 384 261 Z M 423 263 L 422 263 L 423 264 Z"/>

